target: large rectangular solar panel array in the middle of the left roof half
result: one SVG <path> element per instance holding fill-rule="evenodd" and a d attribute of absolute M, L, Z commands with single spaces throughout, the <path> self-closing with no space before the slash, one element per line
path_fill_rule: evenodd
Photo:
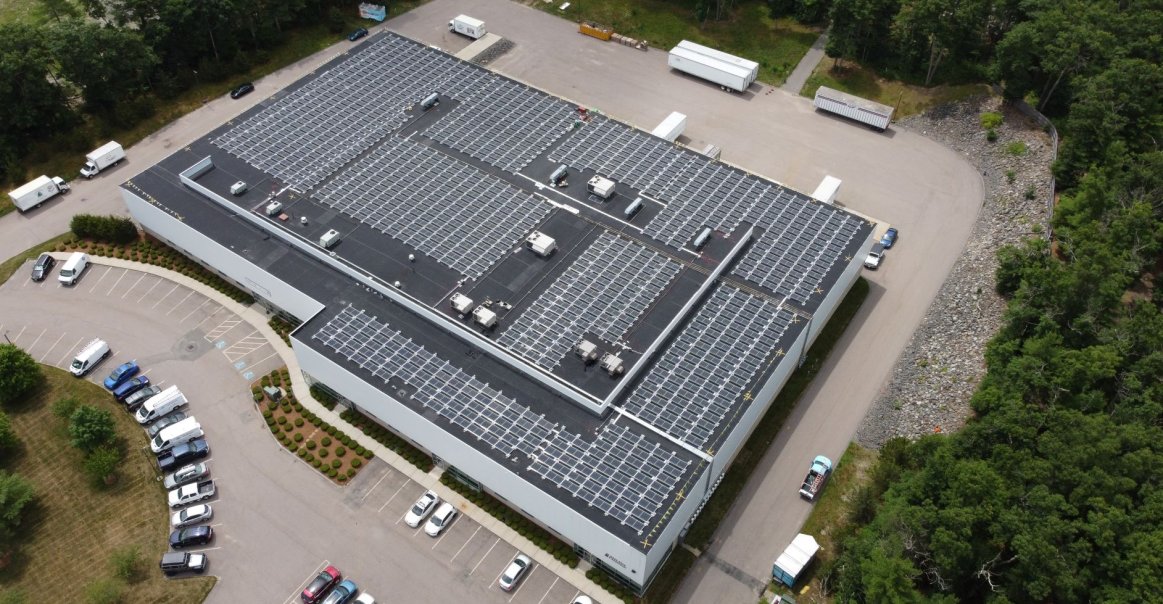
<path fill-rule="evenodd" d="M 472 278 L 551 209 L 499 178 L 395 136 L 315 197 Z"/>

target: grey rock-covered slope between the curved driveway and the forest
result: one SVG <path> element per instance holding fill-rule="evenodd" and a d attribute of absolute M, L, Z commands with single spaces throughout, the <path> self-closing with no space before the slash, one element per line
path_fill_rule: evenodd
<path fill-rule="evenodd" d="M 996 142 L 986 140 L 984 112 L 1005 116 Z M 1044 234 L 1054 159 L 1050 136 L 998 98 L 937 107 L 900 126 L 977 166 L 985 201 L 964 254 L 856 434 L 857 442 L 873 448 L 893 436 L 956 431 L 972 414 L 969 400 L 985 374 L 985 344 L 1005 312 L 1005 300 L 994 291 L 996 254 L 1007 243 Z M 1012 148 L 1018 142 L 1025 143 L 1023 152 Z M 908 246 L 908 233 L 901 246 Z"/>

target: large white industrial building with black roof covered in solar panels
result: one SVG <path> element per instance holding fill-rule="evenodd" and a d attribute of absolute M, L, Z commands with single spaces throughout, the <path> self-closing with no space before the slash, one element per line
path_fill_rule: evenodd
<path fill-rule="evenodd" d="M 302 321 L 311 381 L 638 589 L 873 227 L 388 33 L 122 192 Z"/>

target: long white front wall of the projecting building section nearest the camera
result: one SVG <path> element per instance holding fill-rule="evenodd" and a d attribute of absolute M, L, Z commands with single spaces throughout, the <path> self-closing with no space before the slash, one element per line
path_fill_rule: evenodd
<path fill-rule="evenodd" d="M 526 514 L 621 570 L 627 578 L 637 578 L 640 584 L 644 581 L 647 556 L 636 548 L 298 339 L 291 339 L 291 347 L 304 371 L 354 402 L 361 411 L 480 481 Z"/>

